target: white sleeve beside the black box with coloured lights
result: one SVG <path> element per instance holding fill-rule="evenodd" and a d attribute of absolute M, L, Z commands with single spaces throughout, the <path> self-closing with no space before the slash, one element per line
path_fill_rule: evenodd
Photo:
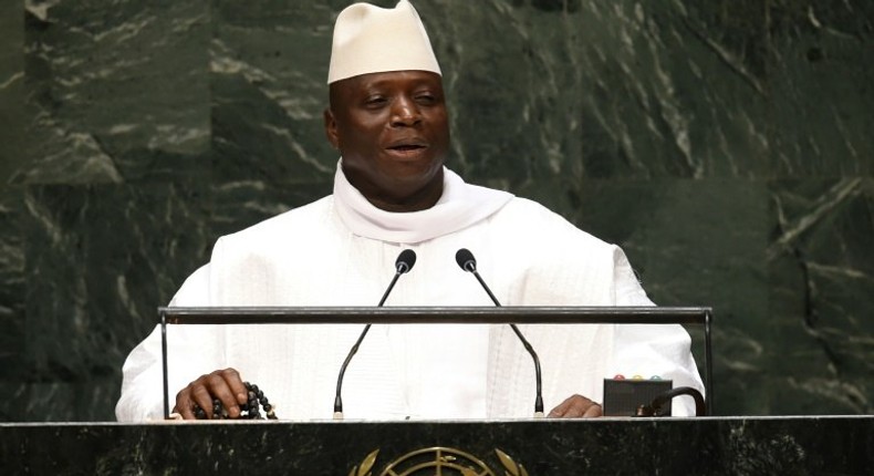
<path fill-rule="evenodd" d="M 615 286 L 616 306 L 654 306 L 622 251 L 615 257 Z M 704 395 L 704 384 L 691 354 L 691 339 L 681 325 L 616 325 L 615 342 L 612 373 L 644 379 L 658 375 L 673 380 L 675 389 L 690 386 Z M 694 416 L 693 397 L 674 399 L 672 415 Z"/>

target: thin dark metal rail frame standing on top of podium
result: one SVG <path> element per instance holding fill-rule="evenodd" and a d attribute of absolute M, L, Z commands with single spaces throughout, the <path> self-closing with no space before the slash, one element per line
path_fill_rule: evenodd
<path fill-rule="evenodd" d="M 705 335 L 707 415 L 712 415 L 712 309 L 701 307 L 211 307 L 158 308 L 164 417 L 169 418 L 167 324 L 697 324 Z"/>

